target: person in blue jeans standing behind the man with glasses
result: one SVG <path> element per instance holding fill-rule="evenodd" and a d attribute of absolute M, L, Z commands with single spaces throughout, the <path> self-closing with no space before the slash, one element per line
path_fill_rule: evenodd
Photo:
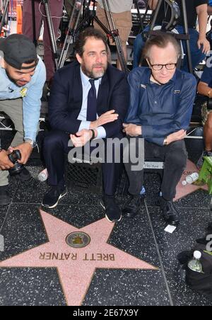
<path fill-rule="evenodd" d="M 176 0 L 179 4 L 179 8 L 182 13 L 182 4 L 181 0 Z M 192 52 L 192 67 L 193 69 L 201 62 L 205 57 L 206 53 L 210 51 L 210 43 L 206 40 L 206 28 L 208 23 L 208 0 L 186 0 L 187 8 L 187 19 L 190 35 L 190 48 Z M 156 6 L 158 5 L 158 0 L 149 0 L 148 5 L 150 8 L 155 11 Z M 155 25 L 162 25 L 164 19 L 170 21 L 170 8 L 165 7 L 165 1 L 163 1 L 162 6 L 160 6 L 160 11 L 158 13 L 158 18 Z M 199 23 L 199 33 L 196 30 L 196 18 L 198 18 Z M 175 29 L 179 34 L 184 33 L 182 16 L 178 21 Z M 149 26 L 143 32 L 148 32 Z M 134 68 L 139 67 L 141 60 L 141 52 L 145 45 L 145 40 L 143 39 L 143 34 L 140 34 L 136 37 L 134 42 Z M 187 52 L 186 42 L 182 41 L 184 52 Z M 184 59 L 184 65 L 182 69 L 186 72 L 189 71 L 187 59 Z"/>

